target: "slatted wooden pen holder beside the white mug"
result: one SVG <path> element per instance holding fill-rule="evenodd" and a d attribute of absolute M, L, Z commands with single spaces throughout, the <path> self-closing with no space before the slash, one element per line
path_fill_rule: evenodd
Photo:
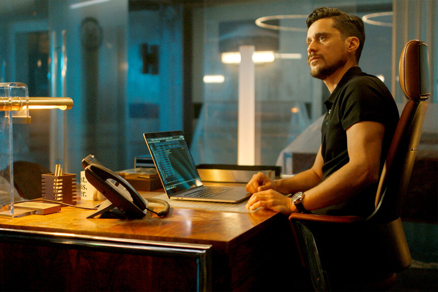
<path fill-rule="evenodd" d="M 51 201 L 76 205 L 76 174 L 42 174 L 42 196 Z"/>

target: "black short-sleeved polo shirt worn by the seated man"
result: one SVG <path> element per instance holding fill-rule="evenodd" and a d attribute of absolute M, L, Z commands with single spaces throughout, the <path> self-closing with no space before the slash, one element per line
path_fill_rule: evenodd
<path fill-rule="evenodd" d="M 347 128 L 360 121 L 385 125 L 381 170 L 398 122 L 397 106 L 385 84 L 377 77 L 353 67 L 342 77 L 325 102 L 327 114 L 321 133 L 324 159 L 323 180 L 349 161 Z M 322 213 L 368 216 L 374 210 L 377 184 L 356 194 L 348 202 L 326 208 Z"/>

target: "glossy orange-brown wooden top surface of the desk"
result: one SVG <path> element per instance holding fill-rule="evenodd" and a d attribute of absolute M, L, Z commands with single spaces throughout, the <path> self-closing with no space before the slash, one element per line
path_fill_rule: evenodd
<path fill-rule="evenodd" d="M 93 207 L 97 203 L 99 202 L 80 201 L 77 206 Z M 159 210 L 160 207 L 156 209 Z M 147 212 L 142 219 L 87 219 L 93 212 L 95 211 L 62 207 L 60 212 L 44 216 L 0 217 L 0 227 L 167 242 L 208 243 L 226 249 L 244 239 L 245 236 L 242 235 L 251 235 L 263 228 L 263 222 L 276 215 L 268 210 L 241 214 L 171 208 L 169 214 L 163 218 Z"/>

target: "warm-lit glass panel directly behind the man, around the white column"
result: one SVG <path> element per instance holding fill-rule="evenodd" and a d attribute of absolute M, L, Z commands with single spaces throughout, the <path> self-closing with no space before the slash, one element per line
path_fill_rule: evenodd
<path fill-rule="evenodd" d="M 411 18 L 413 14 L 431 20 L 436 16 L 436 6 L 427 1 L 243 1 L 196 8 L 194 78 L 203 80 L 202 86 L 194 85 L 193 94 L 194 101 L 202 104 L 191 148 L 196 163 L 238 161 L 239 59 L 230 58 L 239 56 L 239 46 L 252 45 L 255 54 L 272 54 L 265 62 L 253 55 L 256 164 L 279 165 L 284 173 L 311 166 L 320 145 L 319 119 L 329 92 L 309 74 L 305 19 L 321 6 L 337 7 L 364 20 L 366 41 L 359 66 L 383 80 L 399 108 L 404 104 L 398 84 L 404 43 L 429 38 L 430 54 L 436 60 L 436 39 L 428 35 L 433 26 Z M 436 78 L 433 82 L 436 87 Z M 426 127 L 435 121 L 432 108 Z M 436 126 L 431 131 L 436 132 Z"/>

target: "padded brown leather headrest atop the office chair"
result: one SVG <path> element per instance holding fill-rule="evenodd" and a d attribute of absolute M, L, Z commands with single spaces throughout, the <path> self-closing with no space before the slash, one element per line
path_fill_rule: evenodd
<path fill-rule="evenodd" d="M 427 99 L 430 95 L 427 44 L 412 40 L 403 48 L 398 67 L 401 90 L 410 100 Z"/>

